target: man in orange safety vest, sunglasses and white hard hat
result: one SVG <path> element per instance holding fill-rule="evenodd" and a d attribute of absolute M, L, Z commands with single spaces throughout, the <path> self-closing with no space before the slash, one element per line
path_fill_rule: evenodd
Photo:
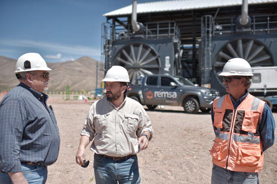
<path fill-rule="evenodd" d="M 246 60 L 230 59 L 219 75 L 228 94 L 212 105 L 215 140 L 210 150 L 211 183 L 259 183 L 264 151 L 275 139 L 271 109 L 249 94 L 253 74 Z"/>

